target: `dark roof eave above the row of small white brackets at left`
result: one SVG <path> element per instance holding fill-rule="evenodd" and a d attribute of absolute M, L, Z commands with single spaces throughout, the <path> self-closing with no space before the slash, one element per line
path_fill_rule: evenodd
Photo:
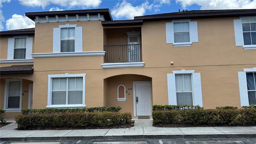
<path fill-rule="evenodd" d="M 56 15 L 58 15 L 58 16 L 66 16 L 66 15 L 76 16 L 76 14 L 78 14 L 79 16 L 86 16 L 87 14 L 89 14 L 89 15 L 102 14 L 102 15 L 104 15 L 104 18 L 106 20 L 113 20 L 108 8 L 91 9 L 91 10 L 63 10 L 63 11 L 51 11 L 51 12 L 26 12 L 25 16 L 27 16 L 31 20 L 34 20 L 36 18 L 36 16 L 38 16 L 38 17 L 45 17 L 45 16 L 55 17 Z"/>

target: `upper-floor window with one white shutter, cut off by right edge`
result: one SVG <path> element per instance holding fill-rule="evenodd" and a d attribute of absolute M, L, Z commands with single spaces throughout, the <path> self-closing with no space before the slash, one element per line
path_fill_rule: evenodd
<path fill-rule="evenodd" d="M 240 17 L 234 20 L 236 46 L 256 49 L 256 16 Z"/>

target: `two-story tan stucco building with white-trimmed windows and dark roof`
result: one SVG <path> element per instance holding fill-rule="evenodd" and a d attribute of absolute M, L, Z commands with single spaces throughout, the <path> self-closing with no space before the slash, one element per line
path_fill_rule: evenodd
<path fill-rule="evenodd" d="M 0 32 L 0 108 L 256 104 L 256 9 L 113 21 L 108 9 L 28 12 Z"/>

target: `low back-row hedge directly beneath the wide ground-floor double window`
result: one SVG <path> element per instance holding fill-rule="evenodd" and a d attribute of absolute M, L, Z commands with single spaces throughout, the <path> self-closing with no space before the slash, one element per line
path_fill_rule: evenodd
<path fill-rule="evenodd" d="M 95 107 L 95 108 L 45 108 L 45 109 L 25 109 L 21 110 L 23 115 L 27 114 L 54 114 L 66 112 L 118 112 L 122 108 L 118 107 Z"/>

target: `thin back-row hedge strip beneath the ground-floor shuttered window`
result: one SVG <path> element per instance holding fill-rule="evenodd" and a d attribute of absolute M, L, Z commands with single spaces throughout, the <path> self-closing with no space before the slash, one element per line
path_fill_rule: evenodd
<path fill-rule="evenodd" d="M 152 110 L 201 110 L 203 109 L 200 106 L 190 106 L 190 105 L 153 105 Z"/>

